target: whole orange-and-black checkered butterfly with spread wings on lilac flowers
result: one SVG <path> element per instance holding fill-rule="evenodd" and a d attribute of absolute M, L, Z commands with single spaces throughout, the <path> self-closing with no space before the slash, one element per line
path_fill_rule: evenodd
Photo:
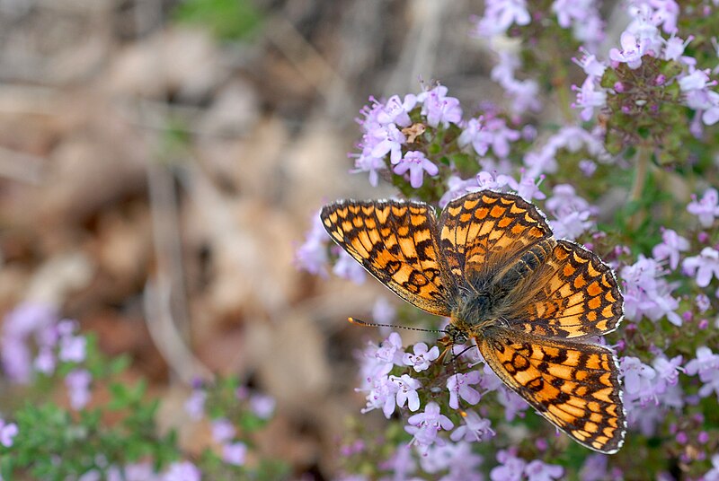
<path fill-rule="evenodd" d="M 556 240 L 519 196 L 483 190 L 434 209 L 411 200 L 341 200 L 320 217 L 332 239 L 404 301 L 449 318 L 455 344 L 581 445 L 624 442 L 617 357 L 590 337 L 617 328 L 624 300 L 610 267 Z"/>

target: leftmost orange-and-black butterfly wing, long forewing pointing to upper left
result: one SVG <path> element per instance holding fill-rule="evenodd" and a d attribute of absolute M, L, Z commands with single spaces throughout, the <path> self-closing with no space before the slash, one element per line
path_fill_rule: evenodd
<path fill-rule="evenodd" d="M 427 204 L 340 201 L 320 213 L 324 229 L 371 275 L 405 301 L 448 316 L 448 282 L 439 262 L 437 224 Z"/>

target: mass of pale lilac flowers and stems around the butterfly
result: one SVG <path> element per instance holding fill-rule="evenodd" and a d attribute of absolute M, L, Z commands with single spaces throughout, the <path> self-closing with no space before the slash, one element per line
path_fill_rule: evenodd
<path fill-rule="evenodd" d="M 628 26 L 615 48 L 599 51 L 604 24 L 596 2 L 484 4 L 475 34 L 491 39 L 492 78 L 506 106 L 484 102 L 466 118 L 468 109 L 440 85 L 374 100 L 362 111 L 355 171 L 439 208 L 473 191 L 517 193 L 546 213 L 556 238 L 605 259 L 617 274 L 626 322 L 586 341 L 617 351 L 631 446 L 612 457 L 567 447 L 549 426 L 532 422 L 527 403 L 475 346 L 442 354 L 425 343 L 405 348 L 391 333 L 359 355 L 358 390 L 361 411 L 386 417 L 390 427 L 381 435 L 396 447 L 387 456 L 368 442 L 355 449 L 352 439 L 343 451 L 347 467 L 372 457 L 372 476 L 383 479 L 423 471 L 443 479 L 604 480 L 633 473 L 642 460 L 667 459 L 643 468 L 661 479 L 676 466 L 687 477 L 717 477 L 719 430 L 706 420 L 715 421 L 719 400 L 719 194 L 710 187 L 719 184 L 719 149 L 709 142 L 719 94 L 711 70 L 717 40 L 706 26 L 719 22 L 719 9 L 698 0 L 626 2 Z M 692 21 L 696 31 L 688 29 Z M 494 41 L 502 35 L 518 41 Z M 575 82 L 567 72 L 581 74 L 576 66 L 584 74 L 581 87 L 573 86 L 577 110 L 567 101 L 553 118 L 543 89 L 561 104 Z M 307 270 L 329 272 L 343 262 L 319 229 L 305 246 L 322 242 L 308 256 L 322 261 Z M 385 324 L 394 316 L 384 301 L 373 312 Z M 486 456 L 492 450 L 495 462 Z"/>

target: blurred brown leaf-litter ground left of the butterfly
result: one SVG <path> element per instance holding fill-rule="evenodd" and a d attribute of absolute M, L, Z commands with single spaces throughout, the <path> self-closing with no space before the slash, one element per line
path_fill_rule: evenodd
<path fill-rule="evenodd" d="M 353 355 L 379 336 L 346 318 L 396 301 L 301 272 L 295 249 L 325 202 L 393 194 L 348 172 L 370 95 L 501 100 L 481 9 L 0 0 L 0 314 L 49 303 L 129 354 L 189 452 L 209 436 L 191 380 L 235 374 L 277 400 L 261 449 L 332 477 L 365 404 Z"/>

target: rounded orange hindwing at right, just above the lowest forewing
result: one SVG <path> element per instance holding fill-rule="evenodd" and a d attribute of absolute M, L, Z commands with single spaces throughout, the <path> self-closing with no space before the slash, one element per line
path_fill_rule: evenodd
<path fill-rule="evenodd" d="M 568 240 L 557 241 L 544 264 L 528 276 L 525 296 L 510 325 L 544 337 L 599 336 L 617 328 L 624 299 L 612 269 Z"/>

